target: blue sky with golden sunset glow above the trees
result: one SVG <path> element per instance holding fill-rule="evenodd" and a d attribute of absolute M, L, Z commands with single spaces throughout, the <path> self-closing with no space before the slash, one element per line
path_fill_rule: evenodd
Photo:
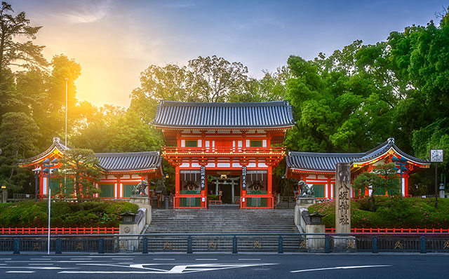
<path fill-rule="evenodd" d="M 128 107 L 150 64 L 184 65 L 217 55 L 262 76 L 289 55 L 330 55 L 356 39 L 384 41 L 392 31 L 426 25 L 445 1 L 118 1 L 14 0 L 44 54 L 65 54 L 82 67 L 80 100 Z"/>

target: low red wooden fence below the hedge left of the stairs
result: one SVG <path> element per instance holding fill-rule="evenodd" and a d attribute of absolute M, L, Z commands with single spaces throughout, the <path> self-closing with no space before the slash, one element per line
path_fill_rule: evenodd
<path fill-rule="evenodd" d="M 0 234 L 45 234 L 48 228 L 0 228 Z M 90 228 L 50 228 L 54 234 L 95 234 L 95 233 L 119 233 L 119 228 L 90 227 Z"/>

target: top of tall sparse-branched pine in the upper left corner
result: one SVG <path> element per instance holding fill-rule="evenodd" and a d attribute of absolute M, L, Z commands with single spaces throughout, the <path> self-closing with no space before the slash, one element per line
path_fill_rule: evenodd
<path fill-rule="evenodd" d="M 36 46 L 31 40 L 41 27 L 32 27 L 25 12 L 13 15 L 10 4 L 1 2 L 0 8 L 0 83 L 4 82 L 4 71 L 10 66 L 43 67 L 47 62 L 43 58 L 43 46 Z M 28 39 L 16 40 L 16 37 Z"/>

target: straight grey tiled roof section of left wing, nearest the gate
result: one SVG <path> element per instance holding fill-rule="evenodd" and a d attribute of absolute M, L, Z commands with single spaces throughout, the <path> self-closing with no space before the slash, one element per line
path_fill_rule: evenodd
<path fill-rule="evenodd" d="M 162 157 L 158 151 L 127 153 L 95 153 L 100 167 L 106 171 L 148 170 L 159 168 Z"/>

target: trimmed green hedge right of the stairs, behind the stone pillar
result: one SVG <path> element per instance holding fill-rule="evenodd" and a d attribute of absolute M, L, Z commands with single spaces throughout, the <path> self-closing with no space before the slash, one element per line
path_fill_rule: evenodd
<path fill-rule="evenodd" d="M 351 200 L 352 228 L 420 228 L 449 229 L 449 199 L 376 197 L 374 211 L 369 211 L 368 198 Z M 309 212 L 323 215 L 326 228 L 335 228 L 335 200 L 309 207 Z"/>

